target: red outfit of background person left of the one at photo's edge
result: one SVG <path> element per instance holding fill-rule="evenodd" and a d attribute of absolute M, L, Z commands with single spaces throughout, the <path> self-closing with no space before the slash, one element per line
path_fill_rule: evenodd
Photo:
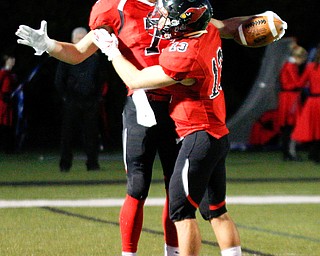
<path fill-rule="evenodd" d="M 279 93 L 279 126 L 294 125 L 300 110 L 299 69 L 293 58 L 284 63 L 280 70 L 281 91 Z"/>

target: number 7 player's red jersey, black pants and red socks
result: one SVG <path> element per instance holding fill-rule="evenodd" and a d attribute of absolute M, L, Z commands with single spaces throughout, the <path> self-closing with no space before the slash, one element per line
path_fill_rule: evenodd
<path fill-rule="evenodd" d="M 138 69 L 158 65 L 161 49 L 169 41 L 153 39 L 146 31 L 146 17 L 155 4 L 147 0 L 99 0 L 92 8 L 90 28 L 110 26 L 119 39 L 121 53 Z M 169 116 L 171 95 L 166 89 L 148 91 L 147 97 L 157 125 L 137 123 L 136 107 L 128 91 L 123 111 L 123 143 L 127 171 L 127 196 L 120 212 L 123 252 L 136 252 L 142 230 L 143 205 L 151 184 L 153 160 L 159 154 L 168 188 L 178 152 L 173 120 Z M 177 247 L 174 224 L 168 217 L 168 201 L 163 211 L 164 236 L 167 245 Z"/>

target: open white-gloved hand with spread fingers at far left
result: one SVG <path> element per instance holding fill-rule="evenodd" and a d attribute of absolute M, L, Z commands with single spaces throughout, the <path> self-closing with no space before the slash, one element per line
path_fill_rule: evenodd
<path fill-rule="evenodd" d="M 55 47 L 55 41 L 47 35 L 47 22 L 41 21 L 41 27 L 38 30 L 26 25 L 20 25 L 16 35 L 18 44 L 24 44 L 35 49 L 35 55 L 42 55 L 44 52 L 51 52 Z"/>

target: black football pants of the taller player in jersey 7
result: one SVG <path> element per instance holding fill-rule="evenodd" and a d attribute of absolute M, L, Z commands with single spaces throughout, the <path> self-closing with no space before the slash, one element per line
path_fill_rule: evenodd
<path fill-rule="evenodd" d="M 152 167 L 158 153 L 165 187 L 173 173 L 178 155 L 175 125 L 169 116 L 169 101 L 150 101 L 157 124 L 144 127 L 137 123 L 136 108 L 131 96 L 123 111 L 123 150 L 124 163 L 127 171 L 127 193 L 136 199 L 148 196 Z"/>

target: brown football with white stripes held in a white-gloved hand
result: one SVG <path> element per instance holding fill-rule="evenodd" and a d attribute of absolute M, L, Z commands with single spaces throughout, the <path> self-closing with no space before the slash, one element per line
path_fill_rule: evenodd
<path fill-rule="evenodd" d="M 271 11 L 251 17 L 237 29 L 234 40 L 246 47 L 263 47 L 279 40 L 287 23 Z"/>

